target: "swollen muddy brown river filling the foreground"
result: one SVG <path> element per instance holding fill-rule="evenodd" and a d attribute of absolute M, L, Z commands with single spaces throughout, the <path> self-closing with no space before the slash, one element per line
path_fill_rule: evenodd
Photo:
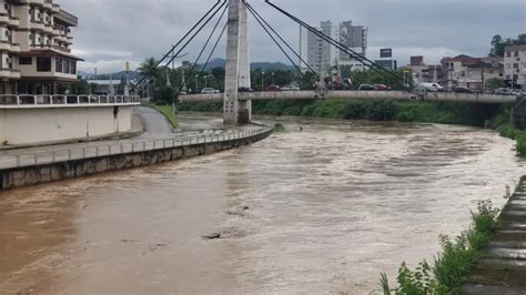
<path fill-rule="evenodd" d="M 368 294 L 525 173 L 490 131 L 289 120 L 252 146 L 0 194 L 0 293 Z"/>

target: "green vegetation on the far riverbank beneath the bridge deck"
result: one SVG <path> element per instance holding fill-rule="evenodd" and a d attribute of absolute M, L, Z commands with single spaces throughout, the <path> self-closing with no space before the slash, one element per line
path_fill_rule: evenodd
<path fill-rule="evenodd" d="M 221 112 L 221 103 L 182 103 L 182 111 Z M 500 112 L 498 105 L 392 100 L 272 100 L 254 101 L 255 114 L 401 121 L 483 126 Z"/>

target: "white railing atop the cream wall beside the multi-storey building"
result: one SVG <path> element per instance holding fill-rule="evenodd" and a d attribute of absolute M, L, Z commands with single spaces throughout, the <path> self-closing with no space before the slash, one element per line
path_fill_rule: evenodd
<path fill-rule="evenodd" d="M 140 96 L 135 95 L 33 95 L 33 94 L 2 94 L 0 108 L 50 106 L 50 105 L 103 105 L 103 104 L 139 104 Z"/>

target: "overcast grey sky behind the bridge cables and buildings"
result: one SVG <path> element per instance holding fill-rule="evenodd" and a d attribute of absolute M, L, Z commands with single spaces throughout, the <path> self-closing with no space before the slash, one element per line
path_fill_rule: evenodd
<path fill-rule="evenodd" d="M 215 0 L 55 0 L 79 17 L 73 28 L 73 53 L 85 60 L 79 69 L 99 73 L 121 71 L 148 57 L 160 58 L 190 29 Z M 322 20 L 352 20 L 368 27 L 368 52 L 393 48 L 399 64 L 421 54 L 426 63 L 442 57 L 466 53 L 485 55 L 490 38 L 500 33 L 515 38 L 526 32 L 526 0 L 273 0 L 312 26 Z M 299 27 L 263 0 L 252 6 L 294 47 Z M 254 20 L 250 21 L 252 61 L 283 61 L 283 53 Z M 189 47 L 188 60 L 204 43 L 205 30 Z M 224 43 L 214 57 L 224 58 Z"/>

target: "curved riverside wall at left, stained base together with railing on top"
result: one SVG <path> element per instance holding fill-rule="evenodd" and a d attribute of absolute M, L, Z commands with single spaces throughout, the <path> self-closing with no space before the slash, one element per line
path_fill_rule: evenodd
<path fill-rule="evenodd" d="M 69 151 L 63 159 L 53 153 L 48 163 L 40 163 L 37 156 L 32 164 L 23 164 L 17 159 L 16 167 L 0 170 L 0 191 L 212 154 L 264 140 L 272 132 L 272 128 L 265 126 L 181 140 L 109 145 L 107 153 L 100 149 L 93 154 L 81 150 L 75 156 Z"/>

